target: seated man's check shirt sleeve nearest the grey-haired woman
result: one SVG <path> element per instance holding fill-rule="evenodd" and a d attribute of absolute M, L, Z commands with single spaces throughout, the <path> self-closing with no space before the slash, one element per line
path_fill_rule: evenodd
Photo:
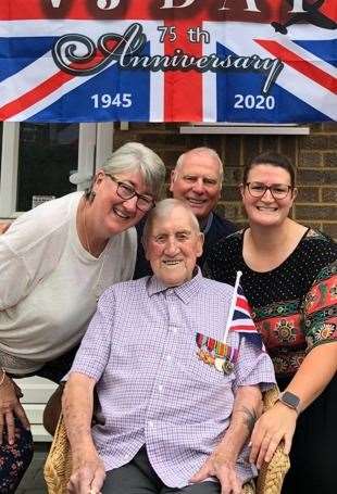
<path fill-rule="evenodd" d="M 82 340 L 70 373 L 80 372 L 96 382 L 100 380 L 110 358 L 114 312 L 115 296 L 110 288 L 99 299 L 97 311 Z"/>

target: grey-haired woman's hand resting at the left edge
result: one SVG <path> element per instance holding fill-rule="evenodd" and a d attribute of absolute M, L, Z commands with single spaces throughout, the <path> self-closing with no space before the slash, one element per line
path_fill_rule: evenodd
<path fill-rule="evenodd" d="M 15 387 L 12 379 L 5 376 L 0 392 L 0 444 L 2 444 L 5 429 L 9 444 L 14 444 L 14 417 L 17 417 L 26 429 L 30 428 L 25 410 L 18 401 L 17 390 L 18 388 Z"/>

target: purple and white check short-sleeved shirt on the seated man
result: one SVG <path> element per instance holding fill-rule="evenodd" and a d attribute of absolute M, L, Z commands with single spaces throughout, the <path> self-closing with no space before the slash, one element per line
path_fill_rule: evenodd
<path fill-rule="evenodd" d="M 240 345 L 230 375 L 197 356 L 197 332 L 223 339 L 232 294 L 233 287 L 199 270 L 180 287 L 146 277 L 100 297 L 72 371 L 98 382 L 92 436 L 107 470 L 129 463 L 146 444 L 164 484 L 187 485 L 223 438 L 237 387 L 275 383 L 267 354 L 238 333 L 228 339 Z M 255 474 L 247 449 L 237 472 L 242 481 Z"/>

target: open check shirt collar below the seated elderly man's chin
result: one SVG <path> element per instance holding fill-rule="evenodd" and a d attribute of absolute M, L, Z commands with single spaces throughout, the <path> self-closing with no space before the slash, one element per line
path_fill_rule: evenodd
<path fill-rule="evenodd" d="M 147 290 L 149 296 L 157 293 L 166 292 L 175 293 L 184 304 L 188 304 L 190 300 L 199 292 L 202 284 L 202 274 L 200 267 L 196 266 L 196 275 L 189 281 L 180 284 L 179 287 L 166 287 L 161 280 L 154 275 L 151 276 L 147 283 Z"/>

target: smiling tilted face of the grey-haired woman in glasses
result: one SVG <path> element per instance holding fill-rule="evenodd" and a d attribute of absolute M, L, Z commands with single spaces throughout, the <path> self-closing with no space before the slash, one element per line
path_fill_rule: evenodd
<path fill-rule="evenodd" d="M 138 194 L 152 198 L 138 169 L 116 174 L 114 178 L 129 190 L 134 189 Z M 136 225 L 146 214 L 137 207 L 137 195 L 127 200 L 118 195 L 115 180 L 100 170 L 93 185 L 96 197 L 92 208 L 102 233 L 108 237 Z"/>

